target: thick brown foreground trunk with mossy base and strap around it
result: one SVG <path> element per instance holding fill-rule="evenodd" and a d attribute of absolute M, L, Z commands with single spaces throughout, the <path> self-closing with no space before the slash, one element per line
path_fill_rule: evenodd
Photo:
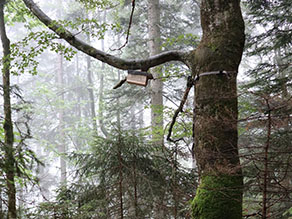
<path fill-rule="evenodd" d="M 239 0 L 202 0 L 202 40 L 192 60 L 193 76 L 237 71 L 244 47 Z M 193 218 L 242 218 L 243 177 L 238 156 L 236 73 L 202 76 L 195 91 L 195 156 L 201 182 Z"/>

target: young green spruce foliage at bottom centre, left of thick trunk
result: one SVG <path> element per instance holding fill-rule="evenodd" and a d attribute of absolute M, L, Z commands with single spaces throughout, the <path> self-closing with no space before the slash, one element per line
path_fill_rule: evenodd
<path fill-rule="evenodd" d="M 55 203 L 40 205 L 35 216 L 150 218 L 159 206 L 168 217 L 185 218 L 194 174 L 182 168 L 174 151 L 156 154 L 157 148 L 133 132 L 96 137 L 89 151 L 71 155 L 74 182 L 59 190 Z"/>

